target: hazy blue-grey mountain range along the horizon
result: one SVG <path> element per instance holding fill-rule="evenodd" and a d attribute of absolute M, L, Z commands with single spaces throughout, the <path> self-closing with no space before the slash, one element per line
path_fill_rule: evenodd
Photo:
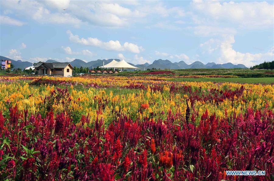
<path fill-rule="evenodd" d="M 5 59 L 5 60 L 11 60 L 7 57 L 4 56 L 0 56 L 0 60 Z M 108 59 L 108 60 L 95 60 L 95 61 L 90 61 L 90 62 L 85 62 L 83 60 L 80 59 L 75 59 L 73 61 L 70 62 L 70 64 L 72 65 L 72 67 L 89 67 L 90 69 L 92 69 L 92 67 L 96 68 L 97 66 L 103 66 L 103 62 L 106 65 L 107 63 L 110 63 L 113 59 Z M 119 59 L 114 59 L 116 61 L 120 61 Z M 56 60 L 47 60 L 46 62 L 55 62 L 57 63 L 58 61 Z M 21 68 L 22 70 L 25 69 L 26 67 L 30 67 L 32 66 L 32 63 L 30 62 L 23 62 L 21 60 L 12 60 L 12 64 L 14 65 L 14 68 Z M 144 64 L 137 64 L 134 65 L 132 63 L 129 63 L 133 66 L 139 67 L 141 68 L 141 70 L 143 68 L 145 69 L 151 69 L 151 68 L 156 68 L 156 69 L 200 69 L 200 68 L 227 68 L 227 69 L 231 69 L 231 68 L 244 68 L 246 69 L 247 67 L 245 67 L 243 64 L 237 64 L 234 65 L 232 63 L 223 63 L 223 64 L 216 64 L 214 62 L 210 62 L 207 64 L 203 64 L 202 62 L 199 61 L 195 61 L 191 64 L 187 64 L 184 61 L 180 61 L 180 62 L 170 62 L 170 60 L 162 60 L 162 59 L 158 59 L 158 60 L 154 60 L 152 64 L 149 63 L 144 63 Z"/>

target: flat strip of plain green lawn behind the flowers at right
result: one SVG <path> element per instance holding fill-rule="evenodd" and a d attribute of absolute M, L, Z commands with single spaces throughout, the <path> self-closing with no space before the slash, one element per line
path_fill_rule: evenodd
<path fill-rule="evenodd" d="M 170 78 L 170 81 L 176 82 L 234 82 L 241 84 L 273 84 L 274 77 L 258 77 L 258 78 Z"/>

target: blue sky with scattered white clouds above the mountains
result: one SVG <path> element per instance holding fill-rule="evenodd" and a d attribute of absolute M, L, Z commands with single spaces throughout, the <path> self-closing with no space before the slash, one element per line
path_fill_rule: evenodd
<path fill-rule="evenodd" d="M 0 55 L 249 67 L 274 59 L 273 9 L 273 1 L 0 1 Z"/>

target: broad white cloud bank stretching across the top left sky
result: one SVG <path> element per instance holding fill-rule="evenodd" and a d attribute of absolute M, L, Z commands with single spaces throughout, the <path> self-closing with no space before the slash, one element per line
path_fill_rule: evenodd
<path fill-rule="evenodd" d="M 181 7 L 167 7 L 163 2 L 6 1 L 1 2 L 1 7 L 39 23 L 70 24 L 75 27 L 89 24 L 124 28 L 136 22 L 147 23 L 150 18 L 144 18 L 148 16 L 177 18 L 185 15 Z"/>

